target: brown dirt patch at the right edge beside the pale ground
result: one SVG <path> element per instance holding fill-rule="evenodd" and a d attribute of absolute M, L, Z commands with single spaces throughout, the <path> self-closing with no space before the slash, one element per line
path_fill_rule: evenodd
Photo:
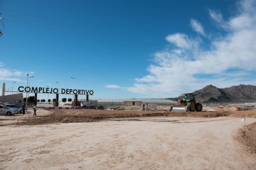
<path fill-rule="evenodd" d="M 256 123 L 239 129 L 238 135 L 234 139 L 238 139 L 245 146 L 246 150 L 256 157 Z"/>

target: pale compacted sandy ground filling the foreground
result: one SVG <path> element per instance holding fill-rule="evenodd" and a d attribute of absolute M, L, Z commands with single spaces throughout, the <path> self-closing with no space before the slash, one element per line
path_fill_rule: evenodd
<path fill-rule="evenodd" d="M 145 117 L 2 126 L 0 169 L 256 169 L 255 158 L 234 139 L 240 120 Z"/>

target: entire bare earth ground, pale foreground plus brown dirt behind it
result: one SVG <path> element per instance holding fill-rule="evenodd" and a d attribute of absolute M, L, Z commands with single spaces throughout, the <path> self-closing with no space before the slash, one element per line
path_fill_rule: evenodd
<path fill-rule="evenodd" d="M 256 168 L 256 111 L 249 107 L 32 112 L 0 116 L 1 169 Z"/>

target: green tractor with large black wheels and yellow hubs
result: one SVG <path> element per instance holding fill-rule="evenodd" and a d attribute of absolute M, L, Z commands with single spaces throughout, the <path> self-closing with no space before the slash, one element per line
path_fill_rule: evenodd
<path fill-rule="evenodd" d="M 179 105 L 184 105 L 189 107 L 189 111 L 202 111 L 203 106 L 200 103 L 196 103 L 195 95 L 192 93 L 184 93 L 180 96 Z"/>

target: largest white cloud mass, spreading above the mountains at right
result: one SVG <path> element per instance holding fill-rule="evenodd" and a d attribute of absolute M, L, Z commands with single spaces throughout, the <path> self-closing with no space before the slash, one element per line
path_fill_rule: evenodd
<path fill-rule="evenodd" d="M 145 97 L 165 98 L 209 84 L 220 88 L 256 85 L 252 72 L 256 63 L 256 5 L 252 2 L 242 1 L 237 14 L 226 21 L 220 12 L 209 10 L 216 26 L 226 30 L 221 38 L 211 39 L 209 50 L 205 50 L 201 39 L 184 33 L 168 35 L 166 40 L 176 47 L 156 52 L 148 75 L 136 78 L 134 86 L 127 90 Z M 196 30 L 204 33 L 200 27 Z"/>

